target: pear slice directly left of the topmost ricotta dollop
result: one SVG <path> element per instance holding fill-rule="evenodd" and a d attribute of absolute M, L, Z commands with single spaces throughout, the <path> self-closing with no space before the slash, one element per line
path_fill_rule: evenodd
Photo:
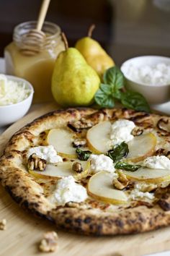
<path fill-rule="evenodd" d="M 110 121 L 102 121 L 94 125 L 86 134 L 89 149 L 94 153 L 106 153 L 110 149 L 109 133 L 111 129 Z"/>

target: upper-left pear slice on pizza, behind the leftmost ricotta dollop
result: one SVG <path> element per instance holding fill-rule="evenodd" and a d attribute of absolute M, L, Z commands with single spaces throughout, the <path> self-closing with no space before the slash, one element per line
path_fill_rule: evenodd
<path fill-rule="evenodd" d="M 76 149 L 73 148 L 73 132 L 67 129 L 50 129 L 47 142 L 53 145 L 58 155 L 66 158 L 76 158 Z"/>

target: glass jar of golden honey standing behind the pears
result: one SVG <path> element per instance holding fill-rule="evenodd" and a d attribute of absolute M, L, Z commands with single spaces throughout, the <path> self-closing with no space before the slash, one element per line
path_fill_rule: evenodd
<path fill-rule="evenodd" d="M 27 54 L 23 51 L 24 36 L 35 29 L 37 22 L 24 22 L 14 28 L 13 42 L 4 50 L 6 74 L 22 77 L 29 81 L 34 89 L 34 103 L 53 101 L 51 76 L 55 59 L 65 49 L 61 39 L 61 28 L 51 22 L 44 22 L 42 32 L 45 39 L 40 51 Z"/>

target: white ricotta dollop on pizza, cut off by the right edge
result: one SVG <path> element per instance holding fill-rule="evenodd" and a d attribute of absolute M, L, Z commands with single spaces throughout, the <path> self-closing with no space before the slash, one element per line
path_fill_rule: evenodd
<path fill-rule="evenodd" d="M 165 155 L 153 155 L 143 161 L 143 166 L 170 170 L 170 160 Z"/>

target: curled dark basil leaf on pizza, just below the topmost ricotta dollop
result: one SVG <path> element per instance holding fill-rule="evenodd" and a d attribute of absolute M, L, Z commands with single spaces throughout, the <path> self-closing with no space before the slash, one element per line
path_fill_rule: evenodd
<path fill-rule="evenodd" d="M 129 153 L 128 144 L 122 142 L 120 145 L 116 145 L 112 150 L 107 151 L 107 156 L 116 162 L 122 158 L 125 158 Z"/>

